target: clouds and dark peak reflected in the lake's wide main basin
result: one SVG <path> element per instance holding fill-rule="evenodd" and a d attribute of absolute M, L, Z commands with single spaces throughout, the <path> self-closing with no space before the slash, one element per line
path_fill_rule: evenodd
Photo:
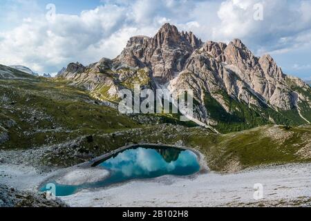
<path fill-rule="evenodd" d="M 191 151 L 176 148 L 135 148 L 119 153 L 100 166 L 124 177 L 157 177 L 164 174 L 189 175 L 198 170 L 198 160 Z"/>

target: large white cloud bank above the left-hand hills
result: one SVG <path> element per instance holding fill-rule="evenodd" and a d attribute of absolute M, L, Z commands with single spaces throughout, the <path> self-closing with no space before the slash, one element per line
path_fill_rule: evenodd
<path fill-rule="evenodd" d="M 0 51 L 6 55 L 0 57 L 0 63 L 22 64 L 44 72 L 75 60 L 88 64 L 107 55 L 106 50 L 110 51 L 107 56 L 115 56 L 116 51 L 106 41 L 116 37 L 117 46 L 126 44 L 128 36 L 119 33 L 124 19 L 124 9 L 117 6 L 100 6 L 79 16 L 57 15 L 52 23 L 44 15 L 24 19 L 17 28 L 0 33 Z"/>

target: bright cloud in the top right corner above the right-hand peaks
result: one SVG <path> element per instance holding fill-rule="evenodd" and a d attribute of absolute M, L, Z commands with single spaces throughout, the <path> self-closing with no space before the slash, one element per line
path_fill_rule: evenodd
<path fill-rule="evenodd" d="M 254 5 L 263 5 L 263 21 L 254 20 Z M 214 38 L 243 39 L 258 52 L 284 50 L 310 42 L 311 1 L 227 0 L 218 10 Z M 301 39 L 303 39 L 301 41 Z M 284 50 L 286 51 L 286 50 Z"/>

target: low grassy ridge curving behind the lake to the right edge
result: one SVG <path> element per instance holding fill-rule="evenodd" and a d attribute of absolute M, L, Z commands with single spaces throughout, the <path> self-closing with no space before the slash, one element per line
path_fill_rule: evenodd
<path fill-rule="evenodd" d="M 94 134 L 91 142 L 48 151 L 44 164 L 70 165 L 135 143 L 171 144 L 199 150 L 213 171 L 239 171 L 265 164 L 311 162 L 311 126 L 283 128 L 261 126 L 248 131 L 216 135 L 205 128 L 161 124 L 109 134 Z M 72 153 L 79 151 L 80 156 Z M 86 153 L 86 154 L 85 154 Z M 69 159 L 59 157 L 70 156 Z"/>

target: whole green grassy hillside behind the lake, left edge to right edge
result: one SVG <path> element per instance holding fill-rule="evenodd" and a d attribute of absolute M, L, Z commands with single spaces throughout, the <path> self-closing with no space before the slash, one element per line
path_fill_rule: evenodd
<path fill-rule="evenodd" d="M 176 116 L 120 115 L 117 110 L 102 106 L 86 90 L 66 82 L 19 72 L 17 75 L 17 79 L 0 77 L 0 135 L 9 136 L 2 138 L 0 148 L 17 151 L 17 160 L 64 167 L 125 144 L 153 143 L 196 148 L 214 171 L 311 162 L 310 125 L 261 126 L 217 135 L 192 124 L 178 125 L 182 123 Z M 259 113 L 249 113 L 243 106 L 230 102 L 241 110 L 242 116 L 261 120 Z M 214 114 L 223 117 L 222 112 Z M 242 116 L 236 114 L 228 119 L 239 123 Z"/>

